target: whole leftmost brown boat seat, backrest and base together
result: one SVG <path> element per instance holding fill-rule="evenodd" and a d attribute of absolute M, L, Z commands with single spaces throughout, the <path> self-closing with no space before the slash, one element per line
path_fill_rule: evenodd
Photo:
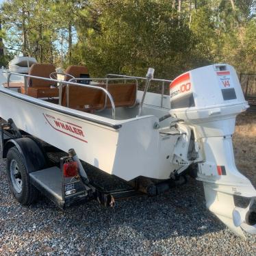
<path fill-rule="evenodd" d="M 33 64 L 29 68 L 29 75 L 35 77 L 50 78 L 50 74 L 55 72 L 55 66 L 52 64 Z M 58 88 L 51 88 L 51 86 L 57 86 L 53 81 L 45 81 L 42 79 L 29 77 L 27 79 L 27 95 L 35 98 L 44 97 L 58 97 Z M 21 92 L 25 94 L 25 88 L 21 88 Z"/>

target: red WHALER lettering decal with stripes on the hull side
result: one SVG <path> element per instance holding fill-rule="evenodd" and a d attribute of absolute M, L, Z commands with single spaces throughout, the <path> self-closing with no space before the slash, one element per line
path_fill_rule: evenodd
<path fill-rule="evenodd" d="M 76 138 L 77 140 L 88 143 L 87 140 L 84 140 L 83 127 L 61 120 L 60 118 L 55 118 L 55 116 L 51 116 L 49 114 L 43 115 L 47 120 L 47 123 L 49 123 L 49 125 L 51 125 L 51 127 L 56 131 L 60 131 L 61 133 Z"/>

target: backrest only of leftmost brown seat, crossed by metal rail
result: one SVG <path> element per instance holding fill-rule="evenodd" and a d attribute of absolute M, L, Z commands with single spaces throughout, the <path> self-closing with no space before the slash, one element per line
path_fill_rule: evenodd
<path fill-rule="evenodd" d="M 52 64 L 38 64 L 35 63 L 29 68 L 29 75 L 34 75 L 36 77 L 50 78 L 50 74 L 55 72 L 55 66 Z M 50 86 L 55 86 L 56 83 L 52 81 L 44 81 L 42 79 L 36 79 L 29 77 L 27 79 L 28 86 L 33 88 L 45 88 Z"/>

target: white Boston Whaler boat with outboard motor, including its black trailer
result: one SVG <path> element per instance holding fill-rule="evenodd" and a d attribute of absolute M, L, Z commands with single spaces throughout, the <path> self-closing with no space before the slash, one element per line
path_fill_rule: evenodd
<path fill-rule="evenodd" d="M 233 155 L 235 116 L 248 107 L 234 68 L 214 64 L 173 81 L 153 72 L 92 78 L 85 66 L 60 74 L 37 63 L 28 75 L 9 72 L 0 86 L 0 116 L 8 120 L 1 145 L 15 198 L 27 205 L 39 190 L 62 208 L 90 199 L 114 205 L 138 190 L 159 194 L 189 174 L 203 181 L 207 207 L 225 225 L 240 236 L 256 233 L 256 190 Z M 15 90 L 14 76 L 26 78 Z M 162 94 L 148 92 L 151 82 L 162 84 Z M 133 190 L 101 190 L 86 166 Z M 235 205 L 235 196 L 248 206 Z"/>

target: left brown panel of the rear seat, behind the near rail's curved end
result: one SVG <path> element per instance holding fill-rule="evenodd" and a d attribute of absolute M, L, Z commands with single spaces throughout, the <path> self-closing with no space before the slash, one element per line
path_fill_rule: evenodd
<path fill-rule="evenodd" d="M 104 87 L 105 85 L 102 85 Z M 66 86 L 62 87 L 62 105 L 66 105 Z M 69 86 L 68 106 L 73 110 L 90 112 L 102 110 L 105 106 L 105 93 L 101 90 L 81 86 Z"/>

